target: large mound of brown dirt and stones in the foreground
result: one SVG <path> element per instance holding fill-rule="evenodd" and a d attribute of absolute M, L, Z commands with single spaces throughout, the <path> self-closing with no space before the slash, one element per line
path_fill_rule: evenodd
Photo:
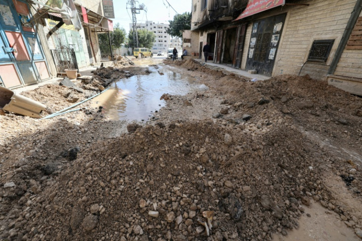
<path fill-rule="evenodd" d="M 250 138 L 212 122 L 160 123 L 82 153 L 28 183 L 4 217 L 9 229 L 24 239 L 205 240 L 202 213 L 214 211 L 215 240 L 270 240 L 298 227 L 310 197 L 328 205 L 324 152 L 289 126 Z M 2 189 L 4 207 L 26 182 Z"/>

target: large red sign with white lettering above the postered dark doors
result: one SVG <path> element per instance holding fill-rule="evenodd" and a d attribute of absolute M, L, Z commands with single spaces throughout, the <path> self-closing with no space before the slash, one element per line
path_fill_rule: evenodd
<path fill-rule="evenodd" d="M 285 4 L 285 0 L 249 0 L 245 10 L 234 21 Z"/>

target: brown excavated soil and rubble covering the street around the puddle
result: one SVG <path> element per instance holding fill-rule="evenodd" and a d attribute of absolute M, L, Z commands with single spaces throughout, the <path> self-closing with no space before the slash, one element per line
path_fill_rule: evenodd
<path fill-rule="evenodd" d="M 299 228 L 312 199 L 353 229 L 346 240 L 362 237 L 360 97 L 308 76 L 250 82 L 164 62 L 209 89 L 165 93 L 166 107 L 128 133 L 112 135 L 127 123 L 98 110 L 0 115 L 1 239 L 272 240 Z M 122 71 L 77 85 L 107 86 Z M 59 110 L 64 90 L 26 95 Z"/>

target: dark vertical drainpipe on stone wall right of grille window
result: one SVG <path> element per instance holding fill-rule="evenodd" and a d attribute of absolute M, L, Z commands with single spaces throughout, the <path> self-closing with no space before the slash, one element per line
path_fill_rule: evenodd
<path fill-rule="evenodd" d="M 348 20 L 346 29 L 343 32 L 341 41 L 339 42 L 337 50 L 335 51 L 330 68 L 328 69 L 328 74 L 334 74 L 337 64 L 342 56 L 343 50 L 347 45 L 349 36 L 351 35 L 352 30 L 357 22 L 357 19 L 360 16 L 361 10 L 362 10 L 362 0 L 357 0 L 356 5 L 351 13 L 351 17 Z"/>

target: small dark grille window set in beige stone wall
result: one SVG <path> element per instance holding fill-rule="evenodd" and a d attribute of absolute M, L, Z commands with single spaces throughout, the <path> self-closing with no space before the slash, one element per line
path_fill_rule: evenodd
<path fill-rule="evenodd" d="M 308 61 L 327 62 L 333 43 L 334 39 L 314 40 L 309 52 Z"/>

